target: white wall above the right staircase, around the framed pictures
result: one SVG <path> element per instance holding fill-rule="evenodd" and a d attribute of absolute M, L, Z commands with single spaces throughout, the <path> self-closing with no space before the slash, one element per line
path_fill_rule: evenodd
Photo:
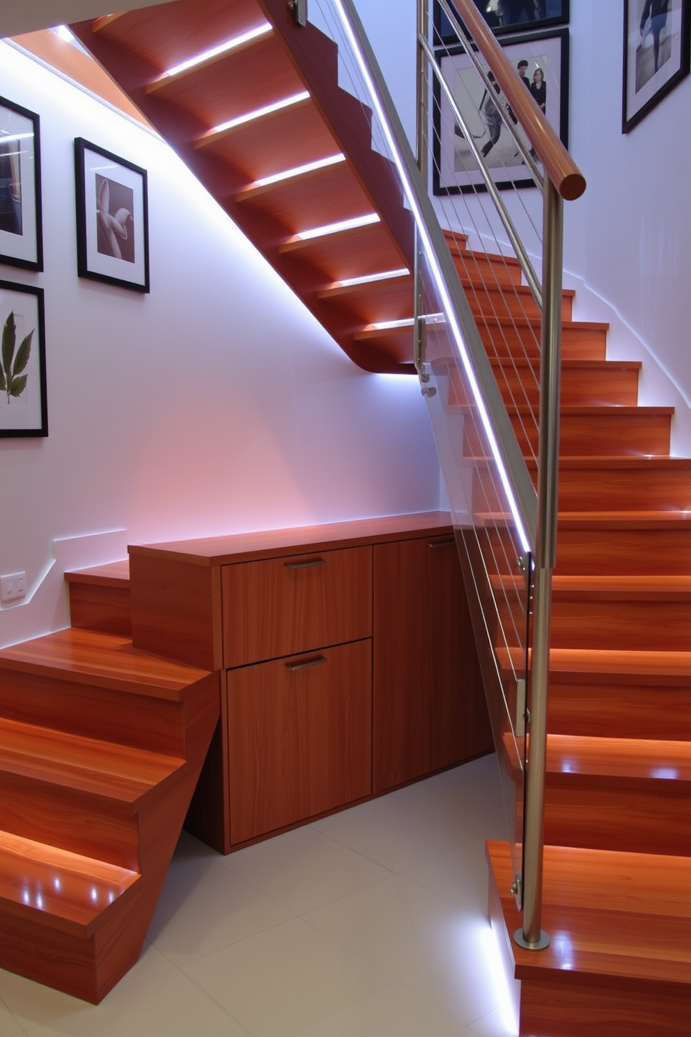
<path fill-rule="evenodd" d="M 399 40 L 413 38 L 414 0 L 354 2 L 408 129 L 414 57 Z M 623 8 L 613 0 L 571 3 L 569 149 L 587 190 L 565 206 L 565 267 L 580 289 L 575 315 L 609 320 L 609 355 L 643 361 L 641 402 L 676 407 L 672 449 L 691 454 L 691 77 L 622 134 Z M 537 192 L 517 194 L 539 219 Z M 525 215 L 514 212 L 526 227 Z M 477 200 L 470 215 L 481 232 L 491 226 L 506 239 Z"/>

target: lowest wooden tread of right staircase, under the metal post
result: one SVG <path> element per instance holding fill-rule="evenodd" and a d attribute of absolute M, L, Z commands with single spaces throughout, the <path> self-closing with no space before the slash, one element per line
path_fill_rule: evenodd
<path fill-rule="evenodd" d="M 522 921 L 509 846 L 486 845 L 513 933 Z M 538 953 L 512 944 L 516 977 L 569 971 L 688 984 L 690 880 L 688 858 L 545 846 L 542 924 L 551 943 Z"/>

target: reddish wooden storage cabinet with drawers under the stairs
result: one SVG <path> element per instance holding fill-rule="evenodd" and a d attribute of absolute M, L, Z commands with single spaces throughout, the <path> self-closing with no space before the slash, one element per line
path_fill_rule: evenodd
<path fill-rule="evenodd" d="M 129 549 L 137 647 L 220 669 L 223 852 L 492 748 L 444 512 Z"/>

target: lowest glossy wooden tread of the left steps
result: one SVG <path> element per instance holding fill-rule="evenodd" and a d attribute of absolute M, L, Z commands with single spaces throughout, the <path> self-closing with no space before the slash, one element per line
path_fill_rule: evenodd
<path fill-rule="evenodd" d="M 0 831 L 0 913 L 39 913 L 46 925 L 88 937 L 96 919 L 139 877 L 127 868 Z"/>

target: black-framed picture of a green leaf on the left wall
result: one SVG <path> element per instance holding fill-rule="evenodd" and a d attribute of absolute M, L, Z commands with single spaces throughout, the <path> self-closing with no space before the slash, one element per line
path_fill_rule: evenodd
<path fill-rule="evenodd" d="M 44 289 L 0 281 L 0 436 L 48 436 Z"/>

